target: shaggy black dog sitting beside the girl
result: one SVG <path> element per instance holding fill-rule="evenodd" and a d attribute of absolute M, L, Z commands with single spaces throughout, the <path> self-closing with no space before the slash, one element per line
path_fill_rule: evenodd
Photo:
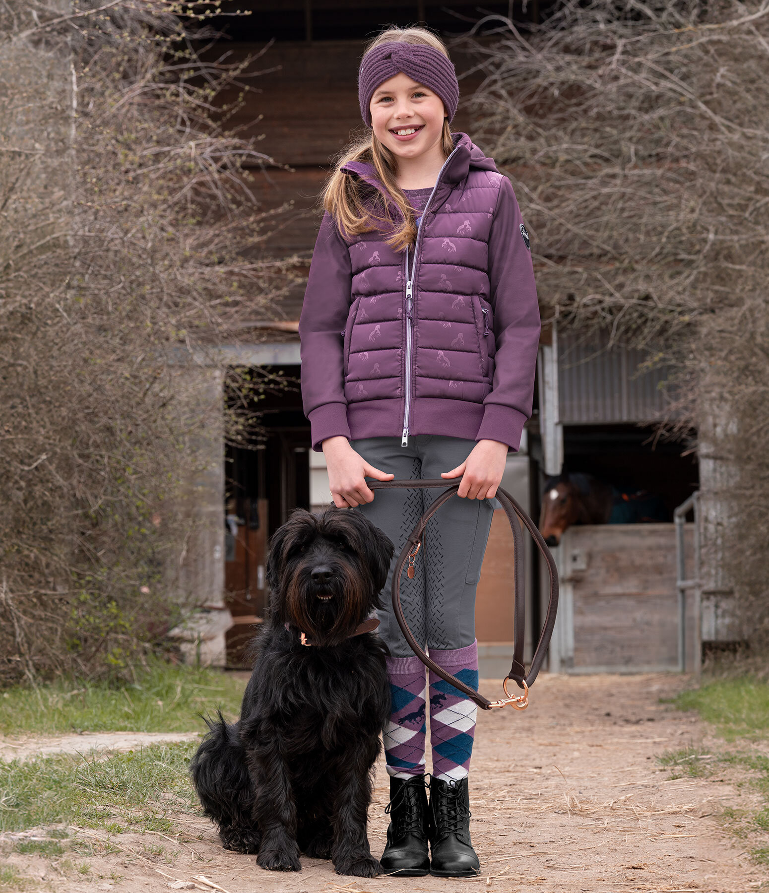
<path fill-rule="evenodd" d="M 360 627 L 372 628 L 393 552 L 363 513 L 336 507 L 297 509 L 272 536 L 270 612 L 240 721 L 209 721 L 190 766 L 224 847 L 258 853 L 262 868 L 301 871 L 304 852 L 339 874 L 381 872 L 366 825 L 388 649 Z"/>

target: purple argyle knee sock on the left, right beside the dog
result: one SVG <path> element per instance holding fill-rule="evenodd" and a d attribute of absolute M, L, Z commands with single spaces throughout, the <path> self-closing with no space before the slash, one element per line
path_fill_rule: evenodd
<path fill-rule="evenodd" d="M 392 713 L 382 739 L 388 774 L 407 779 L 423 775 L 426 729 L 424 664 L 414 657 L 388 657 Z"/>

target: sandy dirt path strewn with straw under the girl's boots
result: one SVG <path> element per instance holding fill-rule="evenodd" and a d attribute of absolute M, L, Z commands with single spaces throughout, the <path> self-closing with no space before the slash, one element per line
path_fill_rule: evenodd
<path fill-rule="evenodd" d="M 496 684 L 482 690 L 492 694 Z M 481 878 L 357 880 L 306 858 L 300 874 L 263 872 L 253 857 L 222 850 L 208 822 L 188 817 L 185 833 L 171 843 L 161 836 L 113 837 L 119 852 L 88 859 L 94 880 L 68 880 L 38 856 L 9 860 L 57 893 L 167 890 L 171 878 L 192 882 L 196 875 L 228 893 L 759 889 L 769 884 L 765 870 L 750 863 L 716 818 L 723 805 L 746 805 L 751 795 L 716 778 L 671 780 L 656 763 L 666 750 L 708 740 L 698 719 L 658 702 L 681 684 L 670 675 L 543 676 L 526 713 L 481 713 L 471 774 Z M 376 854 L 384 846 L 387 793 L 380 767 L 370 834 Z M 164 844 L 166 854 L 153 855 L 154 844 Z M 110 872 L 122 880 L 109 880 Z"/>

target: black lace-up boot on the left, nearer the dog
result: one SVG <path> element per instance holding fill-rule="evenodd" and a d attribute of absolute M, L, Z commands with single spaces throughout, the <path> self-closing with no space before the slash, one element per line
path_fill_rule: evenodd
<path fill-rule="evenodd" d="M 387 846 L 380 859 L 385 874 L 422 877 L 430 873 L 427 850 L 428 808 L 423 775 L 390 778 Z"/>

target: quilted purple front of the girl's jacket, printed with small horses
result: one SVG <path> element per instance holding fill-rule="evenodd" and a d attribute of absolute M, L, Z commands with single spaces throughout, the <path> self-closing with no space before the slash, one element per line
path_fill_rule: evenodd
<path fill-rule="evenodd" d="M 412 316 L 414 397 L 482 404 L 491 390 L 496 346 L 485 267 L 501 179 L 495 171 L 471 171 L 455 205 L 437 208 L 422 231 Z M 372 244 L 371 238 L 366 233 L 349 247 L 348 404 L 402 396 L 405 255 L 384 242 Z M 411 255 L 409 266 L 413 263 Z"/>

